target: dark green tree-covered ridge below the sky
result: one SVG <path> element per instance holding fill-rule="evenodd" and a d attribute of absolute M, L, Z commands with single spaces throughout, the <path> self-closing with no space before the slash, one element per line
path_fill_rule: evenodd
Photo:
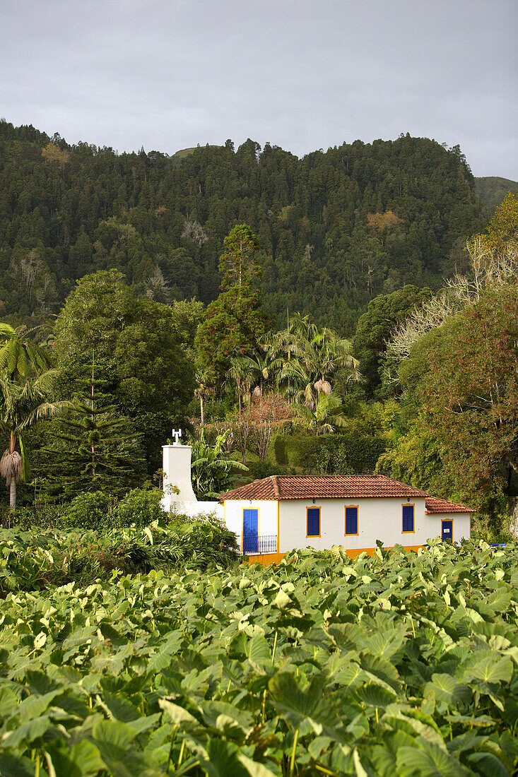
<path fill-rule="evenodd" d="M 45 319 L 79 277 L 112 268 L 156 301 L 212 301 L 222 242 L 258 235 L 267 312 L 352 334 L 369 300 L 436 286 L 481 228 L 458 147 L 408 134 L 303 159 L 247 141 L 117 154 L 0 122 L 0 313 Z"/>

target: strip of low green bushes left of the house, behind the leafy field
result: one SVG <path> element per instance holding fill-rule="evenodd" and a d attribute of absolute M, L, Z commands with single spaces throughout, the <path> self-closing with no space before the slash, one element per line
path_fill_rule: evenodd
<path fill-rule="evenodd" d="M 236 536 L 219 521 L 174 517 L 170 524 L 110 526 L 99 495 L 67 514 L 75 527 L 0 529 L 0 597 L 9 591 L 43 590 L 51 586 L 113 580 L 114 570 L 137 574 L 149 570 L 198 569 L 236 560 Z M 113 512 L 112 512 L 113 515 Z M 79 516 L 84 517 L 81 526 Z M 88 524 L 96 529 L 88 528 Z"/>

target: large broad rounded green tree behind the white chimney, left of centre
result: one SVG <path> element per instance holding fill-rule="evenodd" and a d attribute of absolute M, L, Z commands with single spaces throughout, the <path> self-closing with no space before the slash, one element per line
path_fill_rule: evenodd
<path fill-rule="evenodd" d="M 149 474 L 161 464 L 171 420 L 182 422 L 194 391 L 194 362 L 181 347 L 187 345 L 185 319 L 193 316 L 196 306 L 191 313 L 175 312 L 137 298 L 124 276 L 110 270 L 83 277 L 56 322 L 59 395 L 82 395 L 94 352 L 103 391 L 142 434 Z"/>

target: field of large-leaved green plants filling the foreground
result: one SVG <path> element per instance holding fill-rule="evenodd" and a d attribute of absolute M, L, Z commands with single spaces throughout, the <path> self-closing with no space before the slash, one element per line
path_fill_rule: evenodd
<path fill-rule="evenodd" d="M 307 550 L 12 591 L 0 773 L 512 775 L 517 552 Z"/>

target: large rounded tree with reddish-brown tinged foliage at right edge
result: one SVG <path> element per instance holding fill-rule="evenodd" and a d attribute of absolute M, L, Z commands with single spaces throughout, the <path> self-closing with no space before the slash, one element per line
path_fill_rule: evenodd
<path fill-rule="evenodd" d="M 400 368 L 415 416 L 380 462 L 495 519 L 518 492 L 517 321 L 518 290 L 506 285 L 415 343 Z"/>

